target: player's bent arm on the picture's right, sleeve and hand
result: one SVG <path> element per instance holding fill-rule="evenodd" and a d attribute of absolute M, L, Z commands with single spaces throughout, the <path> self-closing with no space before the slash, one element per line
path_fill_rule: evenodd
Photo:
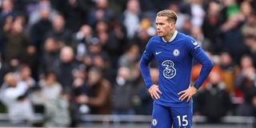
<path fill-rule="evenodd" d="M 194 85 L 190 84 L 187 90 L 183 90 L 178 93 L 182 94 L 179 100 L 183 101 L 186 99 L 186 102 L 190 102 L 190 98 L 197 93 L 198 88 L 202 86 L 202 83 L 206 80 L 210 74 L 210 70 L 214 66 L 213 62 L 210 61 L 210 58 L 193 38 L 188 42 L 188 50 L 190 50 L 190 54 L 192 54 L 192 56 L 202 65 L 202 68 L 198 79 L 194 82 Z"/>

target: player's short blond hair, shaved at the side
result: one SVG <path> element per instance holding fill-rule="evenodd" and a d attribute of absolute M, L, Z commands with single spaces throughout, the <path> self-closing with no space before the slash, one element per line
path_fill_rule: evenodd
<path fill-rule="evenodd" d="M 157 14 L 158 17 L 167 17 L 168 22 L 174 22 L 176 23 L 177 21 L 177 14 L 174 12 L 174 10 L 161 10 Z"/>

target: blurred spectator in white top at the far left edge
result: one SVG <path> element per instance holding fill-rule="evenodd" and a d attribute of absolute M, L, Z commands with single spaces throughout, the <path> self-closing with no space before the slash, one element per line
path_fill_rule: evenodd
<path fill-rule="evenodd" d="M 13 73 L 5 75 L 0 94 L 11 122 L 18 123 L 34 119 L 32 105 L 27 95 L 28 89 L 26 82 L 18 82 Z"/>

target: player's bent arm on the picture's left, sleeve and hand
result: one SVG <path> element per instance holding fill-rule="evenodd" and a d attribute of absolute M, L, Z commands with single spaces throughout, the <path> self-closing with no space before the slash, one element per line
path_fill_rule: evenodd
<path fill-rule="evenodd" d="M 150 78 L 150 68 L 149 63 L 154 58 L 152 50 L 150 50 L 150 42 L 146 46 L 146 50 L 142 54 L 142 58 L 140 60 L 140 70 L 142 73 L 142 77 L 144 79 L 144 82 L 146 84 L 146 87 L 148 88 L 150 92 L 151 98 L 160 98 L 159 94 L 162 94 L 162 92 L 158 89 L 158 85 L 154 85 Z"/>

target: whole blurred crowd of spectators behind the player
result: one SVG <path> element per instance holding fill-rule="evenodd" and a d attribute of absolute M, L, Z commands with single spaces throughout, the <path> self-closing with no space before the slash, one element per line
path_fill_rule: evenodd
<path fill-rule="evenodd" d="M 138 62 L 155 14 L 206 50 L 214 68 L 194 114 L 256 117 L 254 0 L 0 0 L 0 99 L 14 123 L 76 126 L 82 114 L 150 114 Z M 157 64 L 151 77 L 158 82 Z M 194 62 L 193 82 L 201 66 Z M 0 107 L 4 111 L 5 109 Z"/>

